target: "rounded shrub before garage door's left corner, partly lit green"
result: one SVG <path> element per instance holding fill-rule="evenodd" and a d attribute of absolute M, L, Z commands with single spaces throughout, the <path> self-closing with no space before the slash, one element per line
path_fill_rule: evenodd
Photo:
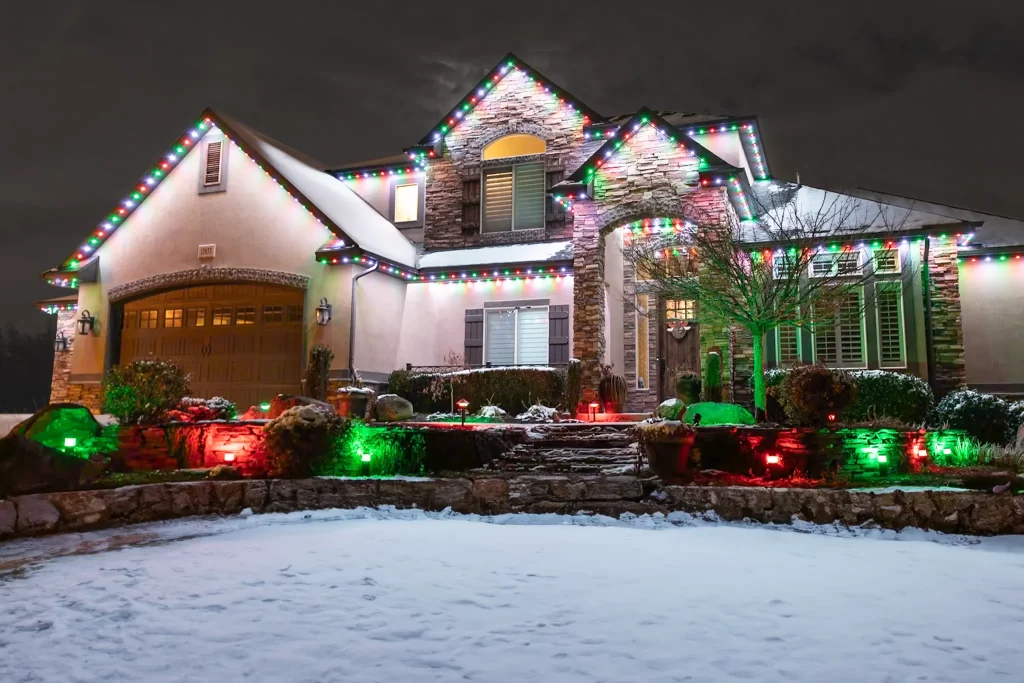
<path fill-rule="evenodd" d="M 158 424 L 188 393 L 188 376 L 173 360 L 133 360 L 103 378 L 103 412 L 122 425 Z"/>

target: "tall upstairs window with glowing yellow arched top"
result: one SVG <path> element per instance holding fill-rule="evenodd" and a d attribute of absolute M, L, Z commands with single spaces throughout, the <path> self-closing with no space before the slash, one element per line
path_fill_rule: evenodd
<path fill-rule="evenodd" d="M 508 160 L 483 170 L 483 232 L 544 227 L 545 175 L 543 161 L 524 157 L 543 155 L 547 144 L 536 135 L 512 133 L 483 147 L 481 161 Z M 516 163 L 520 160 L 520 163 Z"/>

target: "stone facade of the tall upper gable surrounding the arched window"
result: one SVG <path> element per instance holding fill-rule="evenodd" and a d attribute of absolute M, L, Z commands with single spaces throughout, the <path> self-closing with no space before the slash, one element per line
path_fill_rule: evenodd
<path fill-rule="evenodd" d="M 479 226 L 464 229 L 463 181 L 480 177 L 480 153 L 488 142 L 512 133 L 544 139 L 547 170 L 570 173 L 600 145 L 600 141 L 584 139 L 583 126 L 579 110 L 552 101 L 551 94 L 522 72 L 512 71 L 505 76 L 444 136 L 439 158 L 427 167 L 424 246 L 428 250 L 452 249 L 568 239 L 572 233 L 571 214 L 543 230 L 484 234 Z"/>

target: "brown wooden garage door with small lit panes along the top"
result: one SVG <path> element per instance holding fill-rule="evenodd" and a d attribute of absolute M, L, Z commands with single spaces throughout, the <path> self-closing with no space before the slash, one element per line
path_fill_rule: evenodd
<path fill-rule="evenodd" d="M 273 285 L 211 285 L 125 304 L 121 362 L 175 360 L 193 395 L 224 396 L 240 411 L 298 393 L 303 293 Z"/>

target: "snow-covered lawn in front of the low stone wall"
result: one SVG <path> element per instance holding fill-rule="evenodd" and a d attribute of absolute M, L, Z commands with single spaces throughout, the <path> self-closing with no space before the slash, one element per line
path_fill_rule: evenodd
<path fill-rule="evenodd" d="M 490 522 L 490 523 L 484 523 Z M 0 544 L 0 681 L 1020 681 L 1024 540 L 323 511 Z"/>

